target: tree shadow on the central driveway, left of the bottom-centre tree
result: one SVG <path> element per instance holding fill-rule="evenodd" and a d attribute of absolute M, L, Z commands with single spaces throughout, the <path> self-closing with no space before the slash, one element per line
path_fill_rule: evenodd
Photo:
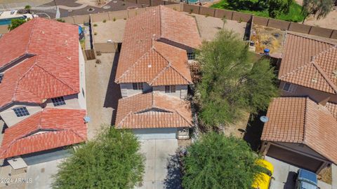
<path fill-rule="evenodd" d="M 183 176 L 181 170 L 180 150 L 174 155 L 170 155 L 169 163 L 167 165 L 167 176 L 164 180 L 164 188 L 166 189 L 180 189 L 181 178 Z"/>

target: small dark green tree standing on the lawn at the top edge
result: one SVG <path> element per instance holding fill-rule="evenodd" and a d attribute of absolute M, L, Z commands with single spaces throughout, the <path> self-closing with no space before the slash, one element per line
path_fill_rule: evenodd
<path fill-rule="evenodd" d="M 271 18 L 277 18 L 282 13 L 289 13 L 289 8 L 293 0 L 269 0 L 268 13 Z"/>

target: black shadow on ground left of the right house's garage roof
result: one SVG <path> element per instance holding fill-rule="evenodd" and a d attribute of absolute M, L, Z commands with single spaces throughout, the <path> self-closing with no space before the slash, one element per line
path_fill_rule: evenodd
<path fill-rule="evenodd" d="M 256 116 L 251 115 L 244 133 L 244 140 L 251 146 L 253 151 L 259 151 L 261 146 L 261 134 L 263 132 L 263 122 L 260 116 L 265 116 L 266 111 L 261 111 Z"/>

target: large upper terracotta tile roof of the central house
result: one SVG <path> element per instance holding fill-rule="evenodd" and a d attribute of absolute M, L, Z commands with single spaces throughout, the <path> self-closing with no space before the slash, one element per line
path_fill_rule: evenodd
<path fill-rule="evenodd" d="M 198 48 L 201 39 L 194 18 L 157 6 L 128 19 L 115 81 L 150 85 L 192 83 L 186 51 L 166 42 Z"/>

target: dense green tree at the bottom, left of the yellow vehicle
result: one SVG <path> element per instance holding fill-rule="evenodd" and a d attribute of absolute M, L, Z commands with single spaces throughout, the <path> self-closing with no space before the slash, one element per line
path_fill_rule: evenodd
<path fill-rule="evenodd" d="M 185 189 L 250 188 L 263 170 L 246 141 L 210 132 L 187 148 L 183 157 Z"/>

